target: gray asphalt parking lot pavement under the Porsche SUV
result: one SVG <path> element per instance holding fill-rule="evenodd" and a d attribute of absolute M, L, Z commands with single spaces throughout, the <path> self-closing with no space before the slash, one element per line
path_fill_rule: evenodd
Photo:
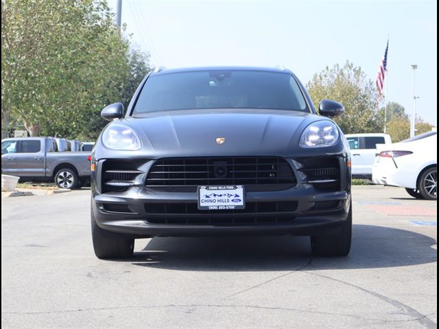
<path fill-rule="evenodd" d="M 137 240 L 99 260 L 90 191 L 1 199 L 3 328 L 436 328 L 437 206 L 354 186 L 353 247 L 305 237 Z"/>

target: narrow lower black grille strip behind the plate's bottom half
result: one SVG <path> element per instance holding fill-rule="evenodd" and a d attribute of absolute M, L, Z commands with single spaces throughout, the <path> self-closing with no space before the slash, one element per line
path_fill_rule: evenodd
<path fill-rule="evenodd" d="M 149 214 L 261 214 L 268 212 L 292 212 L 297 209 L 297 202 L 247 202 L 245 209 L 199 210 L 194 202 L 185 203 L 146 203 Z"/>

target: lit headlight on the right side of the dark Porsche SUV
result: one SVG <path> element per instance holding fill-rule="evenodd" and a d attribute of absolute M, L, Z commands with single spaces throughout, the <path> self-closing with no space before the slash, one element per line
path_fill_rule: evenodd
<path fill-rule="evenodd" d="M 337 143 L 340 134 L 337 126 L 328 120 L 311 123 L 300 136 L 301 147 L 324 147 Z"/>

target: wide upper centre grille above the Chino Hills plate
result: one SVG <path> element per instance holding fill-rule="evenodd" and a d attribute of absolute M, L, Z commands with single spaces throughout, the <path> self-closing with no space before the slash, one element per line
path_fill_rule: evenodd
<path fill-rule="evenodd" d="M 145 185 L 264 185 L 278 189 L 292 187 L 296 177 L 283 158 L 165 158 L 157 160 L 148 173 Z M 191 189 L 193 190 L 193 188 Z"/>

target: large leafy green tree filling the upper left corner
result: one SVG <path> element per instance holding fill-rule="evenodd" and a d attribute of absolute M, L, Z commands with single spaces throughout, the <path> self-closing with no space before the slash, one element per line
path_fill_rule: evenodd
<path fill-rule="evenodd" d="M 2 135 L 12 115 L 31 136 L 95 138 L 100 110 L 132 89 L 136 69 L 106 1 L 2 0 L 1 10 Z"/>

